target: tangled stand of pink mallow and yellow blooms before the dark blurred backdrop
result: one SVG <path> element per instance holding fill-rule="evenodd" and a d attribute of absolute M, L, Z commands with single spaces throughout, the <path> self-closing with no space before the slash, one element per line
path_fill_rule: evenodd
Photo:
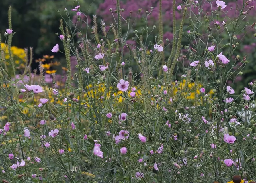
<path fill-rule="evenodd" d="M 67 71 L 61 79 L 51 73 L 46 82 L 41 61 L 39 75 L 30 70 L 32 49 L 30 57 L 26 52 L 25 68 L 1 51 L 1 180 L 255 180 L 256 83 L 236 92 L 232 79 L 243 75 L 249 62 L 243 52 L 241 58 L 233 53 L 239 45 L 234 35 L 244 29 L 239 25 L 247 16 L 244 12 L 251 10 L 251 0 L 235 7 L 239 12 L 235 17 L 228 17 L 224 1 L 205 1 L 210 12 L 204 12 L 200 3 L 173 2 L 173 12 L 182 19 L 176 27 L 173 13 L 174 38 L 167 44 L 161 0 L 159 24 L 149 26 L 151 11 L 146 11 L 140 33 L 133 29 L 134 22 L 122 17 L 125 9 L 119 0 L 108 30 L 104 21 L 98 25 L 97 16 L 89 27 L 79 2 L 60 10 L 67 17 L 60 20 L 56 33 L 60 39 L 52 52 L 66 58 Z M 77 16 L 75 23 L 72 15 Z M 183 26 L 185 20 L 189 30 Z M 125 26 L 127 32 L 122 31 Z M 84 34 L 89 28 L 93 31 Z M 153 29 L 159 34 L 152 42 L 147 38 Z M 15 30 L 10 30 L 11 7 L 5 34 L 9 49 L 15 38 Z M 223 32 L 229 35 L 225 45 L 219 39 Z M 88 34 L 93 39 L 87 39 Z M 128 36 L 136 45 L 127 42 Z M 181 45 L 182 39 L 190 44 Z M 63 79 L 65 84 L 57 87 Z"/>

